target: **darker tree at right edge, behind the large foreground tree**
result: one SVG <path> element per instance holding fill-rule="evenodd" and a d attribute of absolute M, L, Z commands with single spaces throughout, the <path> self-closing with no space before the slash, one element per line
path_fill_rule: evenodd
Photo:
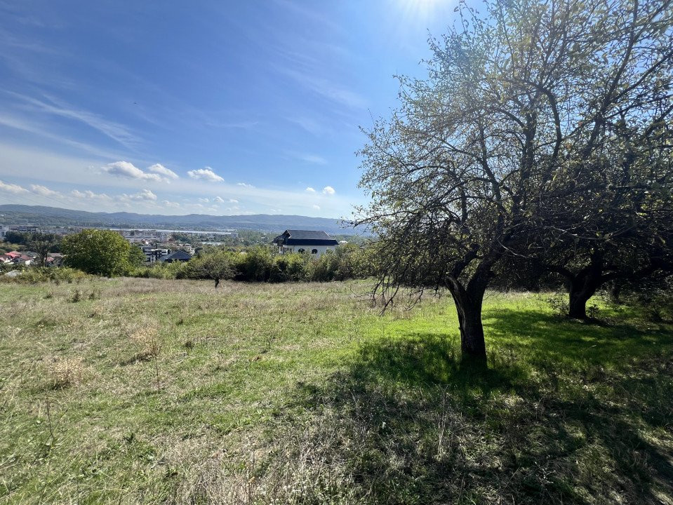
<path fill-rule="evenodd" d="M 540 258 L 573 318 L 606 282 L 673 269 L 672 18 L 669 2 L 620 2 L 607 68 L 578 95 L 587 109 L 540 194 Z"/>

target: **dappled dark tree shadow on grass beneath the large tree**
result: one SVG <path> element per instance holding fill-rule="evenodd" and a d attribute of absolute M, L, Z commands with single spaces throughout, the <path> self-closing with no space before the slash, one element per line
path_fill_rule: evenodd
<path fill-rule="evenodd" d="M 325 384 L 300 386 L 296 405 L 323 426 L 304 443 L 359 503 L 673 499 L 670 355 L 606 370 L 624 352 L 642 358 L 630 341 L 648 335 L 622 328 L 609 342 L 539 316 L 489 314 L 488 370 L 461 364 L 458 342 L 438 335 L 362 346 Z"/>

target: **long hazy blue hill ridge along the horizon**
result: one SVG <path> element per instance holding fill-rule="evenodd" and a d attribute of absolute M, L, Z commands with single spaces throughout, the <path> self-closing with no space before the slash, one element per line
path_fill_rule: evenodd
<path fill-rule="evenodd" d="M 361 229 L 344 227 L 340 220 L 301 215 L 207 214 L 156 215 L 135 213 L 90 213 L 57 207 L 0 205 L 0 224 L 36 224 L 38 226 L 85 226 L 119 228 L 202 229 L 220 228 L 283 231 L 285 229 L 324 230 L 328 234 L 357 234 Z"/>

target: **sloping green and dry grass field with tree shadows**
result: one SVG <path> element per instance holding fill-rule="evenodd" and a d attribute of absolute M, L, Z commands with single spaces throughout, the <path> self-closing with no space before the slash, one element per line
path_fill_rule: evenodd
<path fill-rule="evenodd" d="M 0 503 L 673 504 L 673 326 L 365 291 L 0 284 Z"/>

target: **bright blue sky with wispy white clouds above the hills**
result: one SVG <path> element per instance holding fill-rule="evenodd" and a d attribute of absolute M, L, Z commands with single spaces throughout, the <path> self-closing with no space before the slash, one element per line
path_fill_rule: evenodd
<path fill-rule="evenodd" d="M 347 217 L 455 0 L 0 0 L 0 203 Z"/>

